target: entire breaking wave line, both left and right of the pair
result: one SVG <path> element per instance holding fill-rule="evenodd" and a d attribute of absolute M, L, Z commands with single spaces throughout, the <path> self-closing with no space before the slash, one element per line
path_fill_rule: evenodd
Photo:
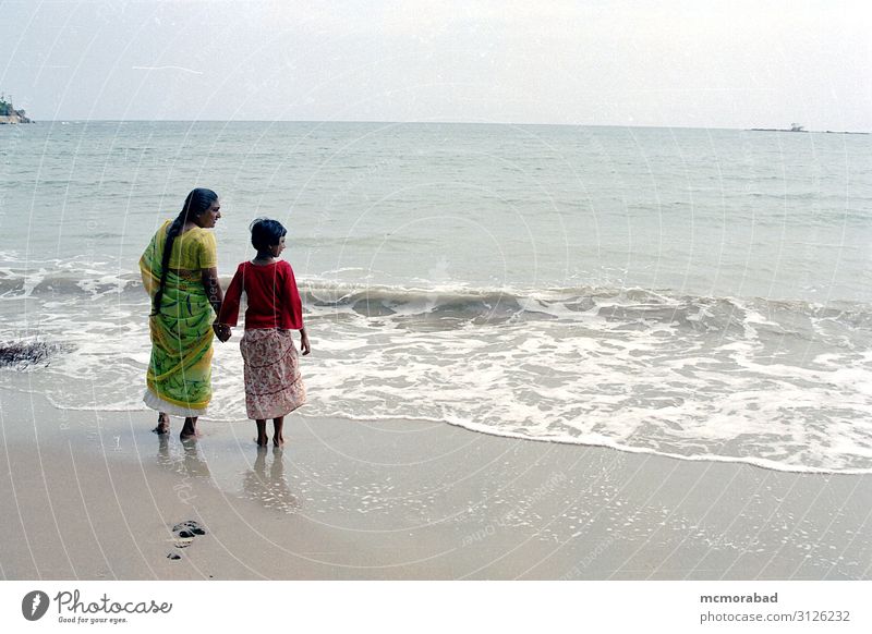
<path fill-rule="evenodd" d="M 223 276 L 221 283 L 229 284 Z M 872 331 L 872 306 L 861 302 L 718 297 L 673 290 L 579 285 L 568 288 L 483 288 L 464 283 L 409 285 L 300 279 L 305 310 L 317 317 L 353 316 L 395 324 L 465 327 L 524 321 L 584 321 L 592 316 L 622 327 L 644 324 L 726 332 L 749 324 L 774 333 L 810 333 L 815 327 Z M 56 272 L 0 269 L 0 300 L 31 297 L 74 304 L 85 297 L 141 301 L 147 297 L 138 273 L 98 269 Z"/>

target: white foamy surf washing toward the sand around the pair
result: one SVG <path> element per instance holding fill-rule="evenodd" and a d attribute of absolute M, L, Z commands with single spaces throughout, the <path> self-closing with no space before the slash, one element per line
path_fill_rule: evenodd
<path fill-rule="evenodd" d="M 791 343 L 782 322 L 761 313 L 765 303 L 552 291 L 500 295 L 517 318 L 488 321 L 489 292 L 377 289 L 370 295 L 390 312 L 367 316 L 354 309 L 360 295 L 334 290 L 335 302 L 308 312 L 315 353 L 303 359 L 304 414 L 446 420 L 795 471 L 872 470 L 872 353 L 858 350 L 868 329 L 850 321 L 826 317 L 840 329 L 831 337 L 848 339 L 844 350 L 807 354 L 803 339 Z M 145 298 L 88 296 L 51 295 L 51 309 L 39 313 L 43 336 L 75 349 L 38 370 L 63 377 L 47 380 L 47 391 L 65 407 L 142 410 Z M 450 327 L 446 307 L 462 316 Z M 790 318 L 796 326 L 807 317 Z M 26 319 L 11 325 L 25 331 Z M 239 336 L 216 345 L 215 419 L 245 417 Z"/>

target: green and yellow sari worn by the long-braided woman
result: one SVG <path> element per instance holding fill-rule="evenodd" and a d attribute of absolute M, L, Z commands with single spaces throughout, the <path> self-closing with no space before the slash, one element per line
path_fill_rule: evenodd
<path fill-rule="evenodd" d="M 158 230 L 140 259 L 143 283 L 153 298 L 168 227 L 169 222 Z M 143 400 L 153 410 L 177 416 L 201 416 L 211 400 L 214 312 L 199 269 L 215 266 L 215 237 L 206 233 L 191 230 L 175 239 L 160 309 L 148 318 L 152 359 Z"/>

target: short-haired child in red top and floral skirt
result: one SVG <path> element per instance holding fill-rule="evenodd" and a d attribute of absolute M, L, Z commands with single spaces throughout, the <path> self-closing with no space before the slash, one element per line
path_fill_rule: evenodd
<path fill-rule="evenodd" d="M 279 259 L 288 231 L 277 220 L 259 218 L 252 222 L 251 232 L 257 256 L 237 268 L 216 328 L 221 331 L 219 336 L 230 337 L 245 291 L 245 334 L 239 344 L 245 367 L 245 410 L 257 423 L 257 446 L 266 447 L 266 419 L 272 418 L 272 443 L 281 447 L 284 415 L 306 399 L 291 330 L 300 331 L 304 355 L 310 353 L 308 336 L 293 269 Z"/>

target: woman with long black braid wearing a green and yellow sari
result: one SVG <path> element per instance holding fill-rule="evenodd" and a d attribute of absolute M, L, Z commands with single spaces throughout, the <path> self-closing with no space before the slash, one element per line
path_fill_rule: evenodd
<path fill-rule="evenodd" d="M 213 327 L 221 309 L 215 234 L 221 217 L 218 195 L 193 190 L 175 220 L 167 220 L 140 259 L 143 283 L 152 296 L 145 404 L 158 411 L 158 434 L 170 428 L 169 414 L 184 416 L 182 440 L 196 437 L 197 417 L 211 399 L 211 341 L 226 330 Z"/>

